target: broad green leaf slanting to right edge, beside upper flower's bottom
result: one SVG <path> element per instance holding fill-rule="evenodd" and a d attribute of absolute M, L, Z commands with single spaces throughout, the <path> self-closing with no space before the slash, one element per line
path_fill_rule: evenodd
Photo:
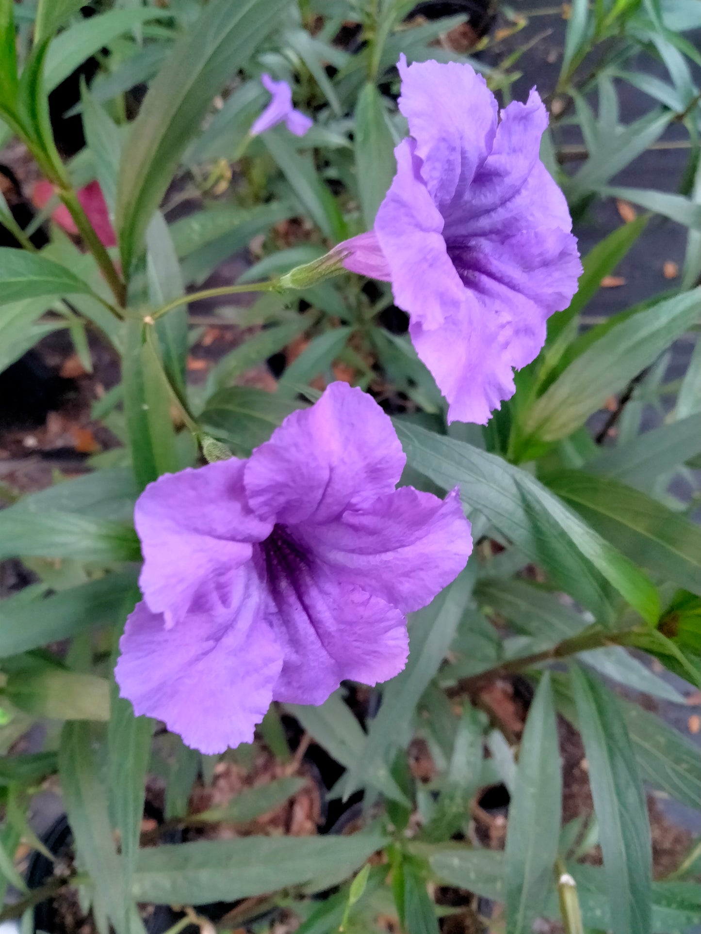
<path fill-rule="evenodd" d="M 694 324 L 700 300 L 701 290 L 684 292 L 612 328 L 536 401 L 524 431 L 546 442 L 574 432 Z"/>

